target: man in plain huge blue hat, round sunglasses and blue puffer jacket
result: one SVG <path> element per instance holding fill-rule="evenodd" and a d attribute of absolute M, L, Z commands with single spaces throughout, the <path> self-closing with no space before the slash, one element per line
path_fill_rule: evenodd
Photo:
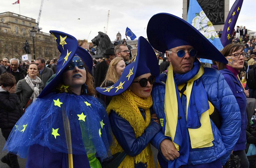
<path fill-rule="evenodd" d="M 172 32 L 173 25 L 178 32 Z M 147 36 L 170 61 L 168 73 L 156 77 L 151 92 L 162 126 L 152 140 L 159 150 L 158 167 L 221 168 L 240 135 L 240 110 L 222 74 L 204 68 L 197 58 L 227 60 L 203 34 L 172 14 L 151 17 Z"/>

